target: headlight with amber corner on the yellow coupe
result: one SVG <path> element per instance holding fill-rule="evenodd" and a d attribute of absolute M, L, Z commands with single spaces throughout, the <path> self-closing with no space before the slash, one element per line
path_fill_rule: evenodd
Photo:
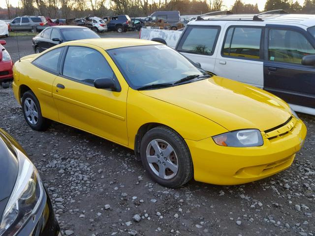
<path fill-rule="evenodd" d="M 243 129 L 212 137 L 216 144 L 226 147 L 258 147 L 264 144 L 258 129 Z"/>

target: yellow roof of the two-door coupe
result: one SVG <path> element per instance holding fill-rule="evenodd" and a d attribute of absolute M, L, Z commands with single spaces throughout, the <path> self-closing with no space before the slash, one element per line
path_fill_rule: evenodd
<path fill-rule="evenodd" d="M 114 49 L 114 48 L 125 48 L 133 46 L 145 46 L 145 45 L 157 45 L 158 42 L 144 39 L 135 38 L 92 38 L 92 39 L 80 39 L 75 41 L 67 42 L 68 45 L 75 44 L 91 44 L 100 47 L 104 50 Z"/>

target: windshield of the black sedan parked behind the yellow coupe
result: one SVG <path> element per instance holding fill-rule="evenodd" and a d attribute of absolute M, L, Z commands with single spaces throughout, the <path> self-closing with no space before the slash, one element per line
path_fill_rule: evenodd
<path fill-rule="evenodd" d="M 68 28 L 61 29 L 63 38 L 65 41 L 88 39 L 88 38 L 99 38 L 99 36 L 88 28 Z"/>

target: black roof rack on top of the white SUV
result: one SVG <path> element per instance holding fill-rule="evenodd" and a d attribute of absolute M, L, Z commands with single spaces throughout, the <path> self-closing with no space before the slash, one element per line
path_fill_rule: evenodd
<path fill-rule="evenodd" d="M 225 14 L 221 14 L 225 13 Z M 203 15 L 200 15 L 196 18 L 196 21 L 263 21 L 263 19 L 259 18 L 259 16 L 267 15 L 267 14 L 288 14 L 283 9 L 279 10 L 272 10 L 272 11 L 265 11 L 262 13 L 259 13 L 257 15 L 251 15 L 251 14 L 244 14 L 244 15 L 234 15 L 231 11 L 215 11 L 215 12 L 209 12 Z M 213 18 L 207 18 L 204 19 L 202 16 L 220 16 L 222 17 L 213 17 Z M 225 16 L 223 16 L 225 15 Z"/>

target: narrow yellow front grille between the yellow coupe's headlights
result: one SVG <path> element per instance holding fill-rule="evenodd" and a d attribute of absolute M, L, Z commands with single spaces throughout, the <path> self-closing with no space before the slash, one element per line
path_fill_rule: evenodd
<path fill-rule="evenodd" d="M 283 124 L 278 125 L 274 128 L 265 130 L 264 135 L 270 141 L 276 140 L 277 138 L 280 138 L 289 134 L 292 131 L 292 129 L 294 129 L 296 122 L 297 122 L 297 119 L 292 116 L 288 118 Z"/>

